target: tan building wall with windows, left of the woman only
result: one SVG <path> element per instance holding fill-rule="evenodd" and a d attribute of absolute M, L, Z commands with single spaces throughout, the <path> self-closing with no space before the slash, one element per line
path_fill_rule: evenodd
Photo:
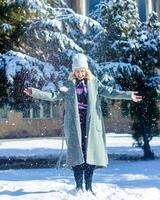
<path fill-rule="evenodd" d="M 63 130 L 63 105 L 40 101 L 35 107 L 16 112 L 0 107 L 0 139 L 24 137 L 59 137 Z"/>

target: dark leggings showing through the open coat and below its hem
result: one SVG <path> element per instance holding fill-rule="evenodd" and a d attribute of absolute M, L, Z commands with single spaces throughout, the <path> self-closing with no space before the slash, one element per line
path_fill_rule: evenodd
<path fill-rule="evenodd" d="M 79 110 L 80 123 L 81 123 L 81 133 L 82 133 L 82 152 L 84 156 L 84 163 L 81 165 L 76 165 L 73 167 L 74 177 L 76 181 L 76 187 L 82 189 L 83 176 L 85 180 L 86 190 L 90 190 L 92 187 L 92 177 L 93 171 L 95 169 L 94 165 L 86 163 L 86 145 L 87 145 L 87 134 L 86 134 L 86 109 Z"/>

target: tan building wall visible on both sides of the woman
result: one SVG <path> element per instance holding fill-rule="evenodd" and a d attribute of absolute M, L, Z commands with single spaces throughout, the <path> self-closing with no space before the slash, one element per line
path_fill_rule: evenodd
<path fill-rule="evenodd" d="M 24 137 L 62 137 L 63 135 L 63 106 L 53 105 L 54 113 L 44 111 L 41 105 L 38 110 L 32 108 L 28 113 L 15 110 L 0 111 L 0 139 Z M 55 108 L 56 106 L 56 108 Z M 0 108 L 2 110 L 2 108 Z M 52 110 L 52 108 L 51 108 Z M 35 113 L 34 113 L 35 112 Z M 119 105 L 109 106 L 110 116 L 104 119 L 107 132 L 132 133 L 132 121 L 122 118 Z M 47 116 L 46 116 L 47 115 Z"/>

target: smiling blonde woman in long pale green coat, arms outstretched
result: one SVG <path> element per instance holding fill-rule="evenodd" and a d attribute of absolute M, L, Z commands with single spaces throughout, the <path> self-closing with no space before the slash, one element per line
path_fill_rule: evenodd
<path fill-rule="evenodd" d="M 24 92 L 34 98 L 55 101 L 65 100 L 64 132 L 67 143 L 67 165 L 73 170 L 76 189 L 92 190 L 94 169 L 108 164 L 105 130 L 102 123 L 100 96 L 109 99 L 126 99 L 135 102 L 142 97 L 136 92 L 118 91 L 104 86 L 93 76 L 88 67 L 87 57 L 78 53 L 73 57 L 72 72 L 66 86 L 60 88 L 59 95 L 26 88 Z"/>

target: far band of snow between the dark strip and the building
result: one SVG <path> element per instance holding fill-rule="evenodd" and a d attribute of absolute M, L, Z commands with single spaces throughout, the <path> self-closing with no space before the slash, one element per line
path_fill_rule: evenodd
<path fill-rule="evenodd" d="M 107 151 L 112 155 L 142 156 L 141 148 L 134 147 L 134 141 L 127 134 L 107 133 Z M 151 141 L 151 147 L 155 154 L 160 157 L 160 138 L 154 138 Z M 60 155 L 62 149 L 62 140 L 53 138 L 26 138 L 0 140 L 0 157 L 44 157 Z M 64 142 L 64 152 L 66 145 Z"/>

